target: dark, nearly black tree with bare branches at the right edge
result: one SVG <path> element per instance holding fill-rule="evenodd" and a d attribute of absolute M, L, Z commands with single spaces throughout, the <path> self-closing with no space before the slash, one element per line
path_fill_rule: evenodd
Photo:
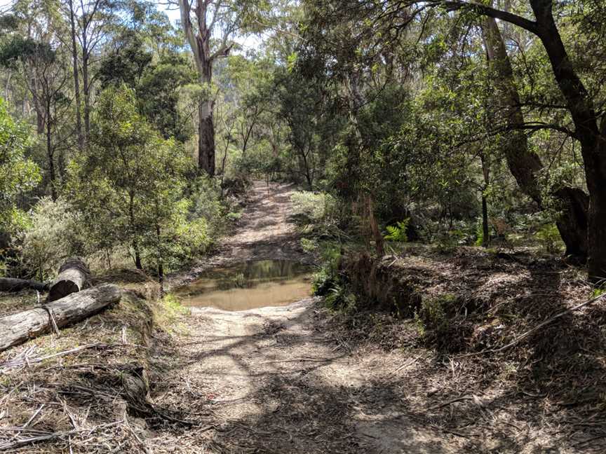
<path fill-rule="evenodd" d="M 402 4 L 403 2 L 400 2 Z M 408 4 L 418 5 L 421 2 Z M 587 211 L 587 252 L 588 273 L 594 280 L 606 277 L 606 116 L 600 111 L 600 90 L 590 92 L 581 80 L 579 68 L 568 53 L 560 25 L 556 22 L 558 11 L 566 4 L 553 0 L 530 0 L 530 14 L 518 15 L 510 11 L 499 10 L 485 4 L 469 1 L 431 1 L 433 6 L 447 8 L 450 11 L 469 11 L 488 18 L 508 22 L 536 36 L 543 45 L 551 65 L 551 75 L 558 85 L 562 97 L 562 106 L 567 110 L 574 130 L 561 124 L 530 125 L 531 128 L 548 128 L 570 135 L 581 146 L 581 156 L 585 179 L 589 193 Z M 556 11 L 554 11 L 554 8 Z M 600 2 L 589 2 L 581 8 L 580 15 L 593 15 L 603 8 Z M 599 30 L 593 30 L 594 44 L 603 46 L 605 36 Z M 598 62 L 599 64 L 599 62 Z M 591 82 L 591 78 L 589 79 Z M 584 212 L 574 210 L 576 223 L 584 224 Z"/>

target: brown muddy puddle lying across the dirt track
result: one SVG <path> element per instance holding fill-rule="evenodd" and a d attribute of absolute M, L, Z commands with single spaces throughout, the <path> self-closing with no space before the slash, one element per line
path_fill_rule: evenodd
<path fill-rule="evenodd" d="M 213 268 L 175 290 L 182 304 L 197 308 L 249 310 L 308 298 L 311 268 L 294 261 L 261 260 Z"/>

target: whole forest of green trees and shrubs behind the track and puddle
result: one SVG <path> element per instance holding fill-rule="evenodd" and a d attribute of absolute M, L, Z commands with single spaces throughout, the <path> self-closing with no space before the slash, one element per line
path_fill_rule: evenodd
<path fill-rule="evenodd" d="M 330 238 L 541 247 L 599 281 L 605 12 L 16 0 L 0 16 L 3 273 L 81 254 L 161 276 L 267 179 L 328 196 Z"/>

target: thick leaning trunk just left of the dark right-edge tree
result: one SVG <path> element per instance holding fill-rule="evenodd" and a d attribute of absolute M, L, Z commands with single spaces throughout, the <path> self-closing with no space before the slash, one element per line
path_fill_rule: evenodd
<path fill-rule="evenodd" d="M 541 158 L 528 149 L 528 141 L 525 132 L 520 128 L 524 125 L 524 116 L 520 107 L 520 95 L 513 80 L 513 69 L 509 55 L 499 31 L 497 21 L 486 17 L 482 24 L 482 34 L 486 48 L 488 61 L 497 74 L 495 84 L 497 85 L 497 102 L 499 110 L 504 115 L 506 128 L 511 132 L 504 138 L 501 149 L 504 152 L 507 166 L 516 179 L 520 189 L 528 195 L 539 208 L 543 206 L 537 173 L 543 169 Z M 516 130 L 517 128 L 517 130 Z M 587 257 L 587 224 L 582 222 L 586 219 L 587 211 L 581 202 L 582 191 L 578 188 L 561 188 L 553 194 L 562 205 L 562 213 L 556 221 L 558 231 L 564 244 L 566 254 L 574 256 L 578 261 L 585 261 Z"/>

